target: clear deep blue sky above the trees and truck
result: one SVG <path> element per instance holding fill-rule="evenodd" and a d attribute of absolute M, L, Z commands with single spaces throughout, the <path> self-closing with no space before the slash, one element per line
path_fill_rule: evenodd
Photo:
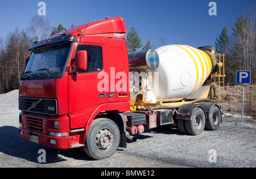
<path fill-rule="evenodd" d="M 38 14 L 39 2 L 46 3 L 46 16 L 51 26 L 62 23 L 65 28 L 81 25 L 109 16 L 121 16 L 127 31 L 138 29 L 142 44 L 158 48 L 163 37 L 166 44 L 186 44 L 194 47 L 214 45 L 222 28 L 232 33 L 232 25 L 244 11 L 247 15 L 255 0 L 165 0 L 165 1 L 102 1 L 102 0 L 23 0 L 0 1 L 0 38 L 16 27 L 21 31 L 29 26 L 32 16 Z M 217 15 L 210 16 L 209 2 L 216 2 Z"/>

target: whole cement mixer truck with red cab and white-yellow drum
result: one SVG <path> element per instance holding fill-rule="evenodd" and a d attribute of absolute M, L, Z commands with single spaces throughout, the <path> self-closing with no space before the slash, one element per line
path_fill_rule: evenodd
<path fill-rule="evenodd" d="M 125 32 L 118 17 L 35 38 L 20 79 L 19 137 L 101 160 L 158 126 L 217 130 L 224 56 L 187 45 L 128 53 Z"/>

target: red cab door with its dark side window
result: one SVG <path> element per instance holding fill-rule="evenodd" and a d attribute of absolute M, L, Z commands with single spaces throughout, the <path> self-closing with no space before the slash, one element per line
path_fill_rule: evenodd
<path fill-rule="evenodd" d="M 86 50 L 87 52 L 87 69 L 86 71 L 75 70 L 69 74 L 69 113 L 83 109 L 89 113 L 88 108 L 106 103 L 107 101 L 107 93 L 99 92 L 97 89 L 98 83 L 101 80 L 98 79 L 98 74 L 104 72 L 104 45 L 77 44 L 72 57 L 75 62 L 76 54 L 80 50 Z"/>

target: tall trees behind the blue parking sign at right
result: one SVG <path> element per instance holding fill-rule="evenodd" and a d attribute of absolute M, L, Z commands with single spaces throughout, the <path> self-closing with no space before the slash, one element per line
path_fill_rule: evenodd
<path fill-rule="evenodd" d="M 251 7 L 250 14 L 242 14 L 233 23 L 232 35 L 228 36 L 226 26 L 221 35 L 217 37 L 216 52 L 225 54 L 225 85 L 236 84 L 236 71 L 250 70 L 251 84 L 256 84 L 256 32 L 255 32 L 255 7 Z"/>

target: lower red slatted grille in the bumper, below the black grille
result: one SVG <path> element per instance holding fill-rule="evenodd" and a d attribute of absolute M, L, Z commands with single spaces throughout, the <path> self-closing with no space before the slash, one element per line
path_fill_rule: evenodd
<path fill-rule="evenodd" d="M 47 118 L 23 116 L 23 128 L 47 134 Z"/>

